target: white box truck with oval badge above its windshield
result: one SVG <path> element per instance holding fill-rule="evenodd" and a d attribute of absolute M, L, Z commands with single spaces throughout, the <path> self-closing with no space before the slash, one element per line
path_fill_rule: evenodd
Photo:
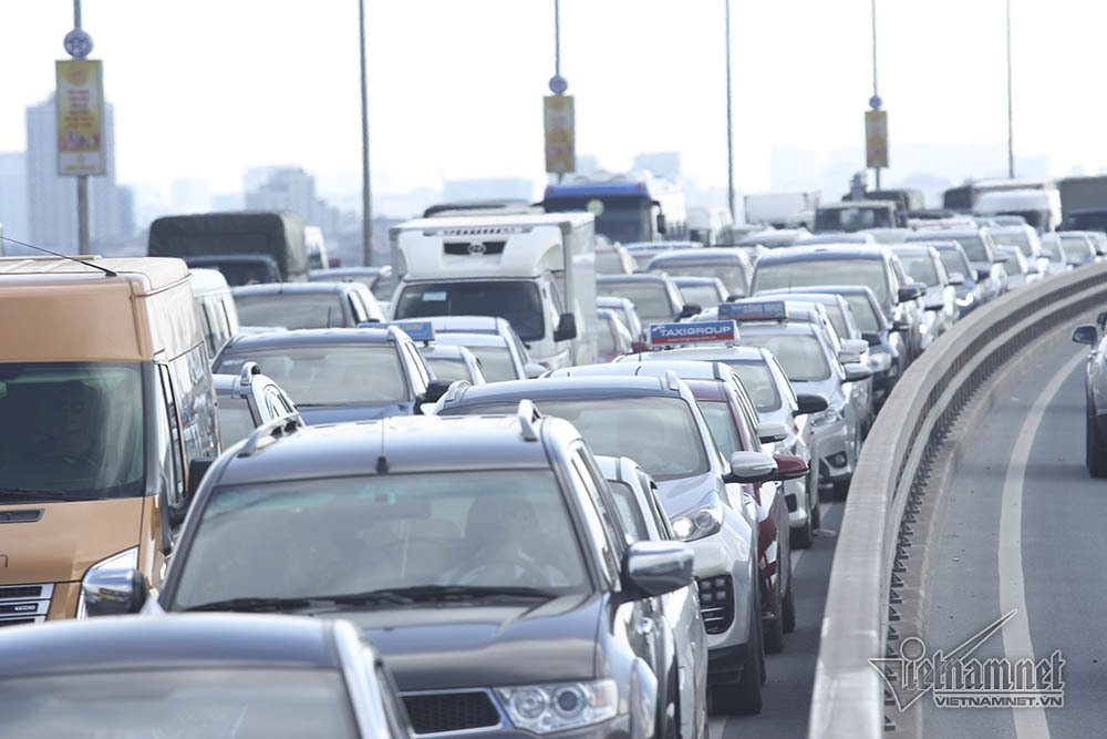
<path fill-rule="evenodd" d="M 498 316 L 550 369 L 596 361 L 589 213 L 422 218 L 390 233 L 392 319 Z"/>

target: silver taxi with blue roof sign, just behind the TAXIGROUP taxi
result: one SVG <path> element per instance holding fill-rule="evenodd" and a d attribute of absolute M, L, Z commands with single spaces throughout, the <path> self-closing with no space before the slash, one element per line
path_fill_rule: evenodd
<path fill-rule="evenodd" d="M 820 305 L 742 300 L 724 302 L 717 312 L 741 325 L 741 343 L 776 355 L 797 393 L 826 399 L 827 409 L 811 415 L 821 456 L 819 476 L 832 483 L 838 495 L 845 495 L 861 452 L 865 422 L 850 402 L 848 386 L 868 380 L 872 370 L 837 343 Z"/>

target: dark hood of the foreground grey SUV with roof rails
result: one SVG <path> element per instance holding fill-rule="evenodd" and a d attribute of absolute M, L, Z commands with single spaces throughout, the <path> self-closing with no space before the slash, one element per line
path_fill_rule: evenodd
<path fill-rule="evenodd" d="M 427 604 L 350 613 L 402 691 L 588 680 L 597 675 L 604 595 L 518 605 Z"/>

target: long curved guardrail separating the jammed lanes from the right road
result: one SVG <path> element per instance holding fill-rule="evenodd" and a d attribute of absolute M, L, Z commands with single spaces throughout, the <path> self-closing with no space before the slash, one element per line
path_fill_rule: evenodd
<path fill-rule="evenodd" d="M 912 487 L 958 414 L 996 369 L 1058 325 L 1107 304 L 1107 264 L 1020 288 L 979 308 L 903 373 L 861 451 L 827 592 L 808 739 L 878 739 L 889 593 Z"/>

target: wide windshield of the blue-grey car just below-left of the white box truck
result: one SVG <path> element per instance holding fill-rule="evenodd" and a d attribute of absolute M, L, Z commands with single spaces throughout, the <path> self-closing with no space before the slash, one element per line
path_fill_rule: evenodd
<path fill-rule="evenodd" d="M 261 371 L 311 406 L 386 404 L 407 400 L 407 382 L 392 345 L 303 345 L 224 353 L 216 372 L 239 374 L 256 361 Z"/>

